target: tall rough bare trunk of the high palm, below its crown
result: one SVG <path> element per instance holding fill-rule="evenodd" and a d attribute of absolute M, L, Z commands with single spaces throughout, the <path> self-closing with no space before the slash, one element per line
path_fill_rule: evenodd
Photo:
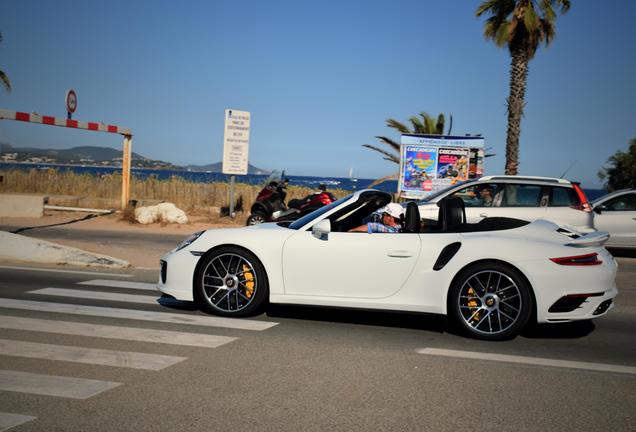
<path fill-rule="evenodd" d="M 516 48 L 510 52 L 510 95 L 508 96 L 508 135 L 506 137 L 506 174 L 517 175 L 519 166 L 519 136 L 528 79 L 528 52 Z"/>

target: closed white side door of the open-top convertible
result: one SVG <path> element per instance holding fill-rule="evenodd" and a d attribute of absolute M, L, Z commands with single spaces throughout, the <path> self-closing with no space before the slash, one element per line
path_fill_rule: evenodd
<path fill-rule="evenodd" d="M 299 231 L 283 245 L 285 295 L 384 298 L 407 280 L 420 253 L 408 233 Z"/>

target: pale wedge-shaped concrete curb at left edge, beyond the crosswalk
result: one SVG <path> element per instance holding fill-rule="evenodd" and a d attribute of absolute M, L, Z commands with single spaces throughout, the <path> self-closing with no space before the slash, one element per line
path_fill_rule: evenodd
<path fill-rule="evenodd" d="M 130 267 L 128 261 L 0 231 L 0 259 L 87 267 Z"/>

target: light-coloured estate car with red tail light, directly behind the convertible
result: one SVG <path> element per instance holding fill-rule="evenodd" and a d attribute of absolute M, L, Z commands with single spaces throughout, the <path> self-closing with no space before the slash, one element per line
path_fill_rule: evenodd
<path fill-rule="evenodd" d="M 418 201 L 422 219 L 437 219 L 437 203 L 444 198 L 464 201 L 466 221 L 509 217 L 533 221 L 548 219 L 581 233 L 594 231 L 594 215 L 578 183 L 549 177 L 485 176 L 429 195 Z"/>

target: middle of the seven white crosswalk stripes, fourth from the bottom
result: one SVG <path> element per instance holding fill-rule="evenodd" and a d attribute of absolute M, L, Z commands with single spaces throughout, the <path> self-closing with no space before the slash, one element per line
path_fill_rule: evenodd
<path fill-rule="evenodd" d="M 201 333 L 174 332 L 134 327 L 116 327 L 68 321 L 51 321 L 0 315 L 0 328 L 73 336 L 100 337 L 137 342 L 165 343 L 171 345 L 217 348 L 236 340 L 235 337 Z"/>

